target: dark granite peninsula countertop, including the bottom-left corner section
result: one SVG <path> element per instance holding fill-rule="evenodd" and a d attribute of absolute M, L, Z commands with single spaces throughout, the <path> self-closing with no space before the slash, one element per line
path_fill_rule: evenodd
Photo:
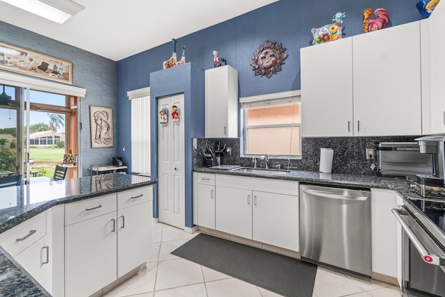
<path fill-rule="evenodd" d="M 32 179 L 31 179 L 32 180 Z M 110 173 L 0 188 L 0 233 L 58 204 L 156 184 L 157 179 Z M 0 296 L 51 296 L 0 248 Z"/>

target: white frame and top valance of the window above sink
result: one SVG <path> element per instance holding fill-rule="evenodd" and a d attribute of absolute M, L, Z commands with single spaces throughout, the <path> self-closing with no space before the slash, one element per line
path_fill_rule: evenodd
<path fill-rule="evenodd" d="M 248 154 L 248 129 L 251 127 L 248 127 L 246 125 L 247 121 L 247 109 L 250 107 L 260 107 L 260 106 L 273 106 L 273 105 L 280 105 L 280 104 L 289 104 L 289 103 L 298 103 L 301 102 L 301 90 L 291 90 L 288 92 L 280 92 L 280 93 L 270 93 L 266 95 L 259 95 L 259 96 L 251 96 L 251 97 L 241 97 L 239 99 L 239 102 L 241 104 L 241 109 L 243 109 L 243 118 L 241 119 L 241 122 L 243 123 L 243 156 L 245 157 L 252 157 L 252 156 L 261 156 L 261 154 Z M 272 128 L 272 127 L 300 127 L 300 135 L 299 135 L 299 145 L 301 149 L 301 104 L 300 104 L 300 122 L 299 123 L 289 123 L 289 124 L 282 124 L 282 125 L 264 125 L 264 126 L 254 126 L 255 128 Z M 267 154 L 268 152 L 264 152 L 264 154 Z M 301 153 L 301 152 L 300 152 Z M 269 155 L 273 158 L 286 158 L 286 159 L 301 159 L 301 154 L 299 155 L 277 155 L 272 154 Z"/>

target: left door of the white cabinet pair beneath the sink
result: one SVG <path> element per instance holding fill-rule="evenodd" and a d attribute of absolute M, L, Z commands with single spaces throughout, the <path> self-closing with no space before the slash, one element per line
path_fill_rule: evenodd
<path fill-rule="evenodd" d="M 252 191 L 216 186 L 216 230 L 252 239 Z"/>

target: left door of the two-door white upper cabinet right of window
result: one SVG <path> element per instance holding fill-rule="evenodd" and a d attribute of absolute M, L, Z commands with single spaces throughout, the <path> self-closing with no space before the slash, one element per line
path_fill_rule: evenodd
<path fill-rule="evenodd" d="M 300 49 L 302 137 L 353 135 L 353 41 Z"/>

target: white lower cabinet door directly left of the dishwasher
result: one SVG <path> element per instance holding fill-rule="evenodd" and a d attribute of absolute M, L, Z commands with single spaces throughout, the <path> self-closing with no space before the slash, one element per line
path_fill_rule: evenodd
<path fill-rule="evenodd" d="M 253 191 L 253 240 L 300 250 L 298 196 Z"/>

